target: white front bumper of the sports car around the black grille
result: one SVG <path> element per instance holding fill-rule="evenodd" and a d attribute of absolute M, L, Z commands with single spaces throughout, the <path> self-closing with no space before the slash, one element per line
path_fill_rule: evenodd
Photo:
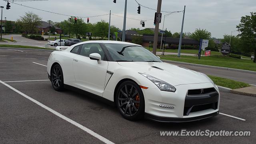
<path fill-rule="evenodd" d="M 219 111 L 220 93 L 218 88 L 212 83 L 184 84 L 175 86 L 175 92 L 161 91 L 159 88 L 142 89 L 145 99 L 145 113 L 147 118 L 160 117 L 171 119 L 166 121 L 177 121 L 176 118 L 184 118 L 184 121 L 192 121 L 209 117 Z M 216 93 L 211 96 L 188 97 L 188 90 L 215 88 Z M 191 98 L 193 100 L 191 100 Z M 163 108 L 160 105 L 170 106 L 172 108 Z M 199 108 L 199 110 L 198 110 Z M 172 119 L 174 118 L 174 119 Z M 190 118 L 192 120 L 190 120 Z M 158 118 L 152 118 L 158 120 Z M 159 120 L 161 121 L 161 120 Z M 165 120 L 162 120 L 165 121 Z M 178 120 L 182 121 L 182 120 Z"/>

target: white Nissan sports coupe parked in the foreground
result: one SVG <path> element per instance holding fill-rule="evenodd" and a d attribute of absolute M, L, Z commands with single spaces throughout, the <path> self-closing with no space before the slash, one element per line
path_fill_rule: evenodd
<path fill-rule="evenodd" d="M 109 102 L 128 120 L 188 122 L 219 113 L 220 93 L 208 76 L 164 63 L 140 45 L 87 41 L 63 49 L 47 64 L 54 90 Z"/>

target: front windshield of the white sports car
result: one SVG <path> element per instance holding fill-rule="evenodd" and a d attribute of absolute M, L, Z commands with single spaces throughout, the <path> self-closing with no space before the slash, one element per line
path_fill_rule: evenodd
<path fill-rule="evenodd" d="M 146 48 L 129 44 L 105 44 L 116 62 L 162 62 Z"/>

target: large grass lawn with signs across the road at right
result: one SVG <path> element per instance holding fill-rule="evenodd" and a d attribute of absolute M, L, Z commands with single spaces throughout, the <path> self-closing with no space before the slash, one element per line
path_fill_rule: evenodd
<path fill-rule="evenodd" d="M 256 71 L 256 64 L 252 60 L 231 58 L 228 56 L 202 56 L 201 60 L 195 56 L 181 56 L 180 58 L 176 55 L 165 55 L 160 56 L 162 60 L 173 60 L 178 62 L 188 62 L 192 64 L 203 64 L 208 66 L 220 66 L 226 68 L 236 68 L 241 70 Z"/>

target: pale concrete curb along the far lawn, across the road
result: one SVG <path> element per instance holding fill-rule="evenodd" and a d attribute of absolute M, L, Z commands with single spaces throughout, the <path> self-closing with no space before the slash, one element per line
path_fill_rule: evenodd
<path fill-rule="evenodd" d="M 251 71 L 251 70 L 240 70 L 240 69 L 236 69 L 236 68 L 225 68 L 225 67 L 220 67 L 220 66 L 207 66 L 207 65 L 203 65 L 203 64 L 192 64 L 192 63 L 188 63 L 188 62 L 177 62 L 177 61 L 173 61 L 173 60 L 162 60 L 163 62 L 168 62 L 168 63 L 174 63 L 174 64 L 186 64 L 186 65 L 190 65 L 190 66 L 200 66 L 200 67 L 205 67 L 205 68 L 216 68 L 216 69 L 221 69 L 221 70 L 232 70 L 232 71 L 236 71 L 236 72 L 245 72 L 245 73 L 250 73 L 250 74 L 256 74 L 256 72 Z"/>

